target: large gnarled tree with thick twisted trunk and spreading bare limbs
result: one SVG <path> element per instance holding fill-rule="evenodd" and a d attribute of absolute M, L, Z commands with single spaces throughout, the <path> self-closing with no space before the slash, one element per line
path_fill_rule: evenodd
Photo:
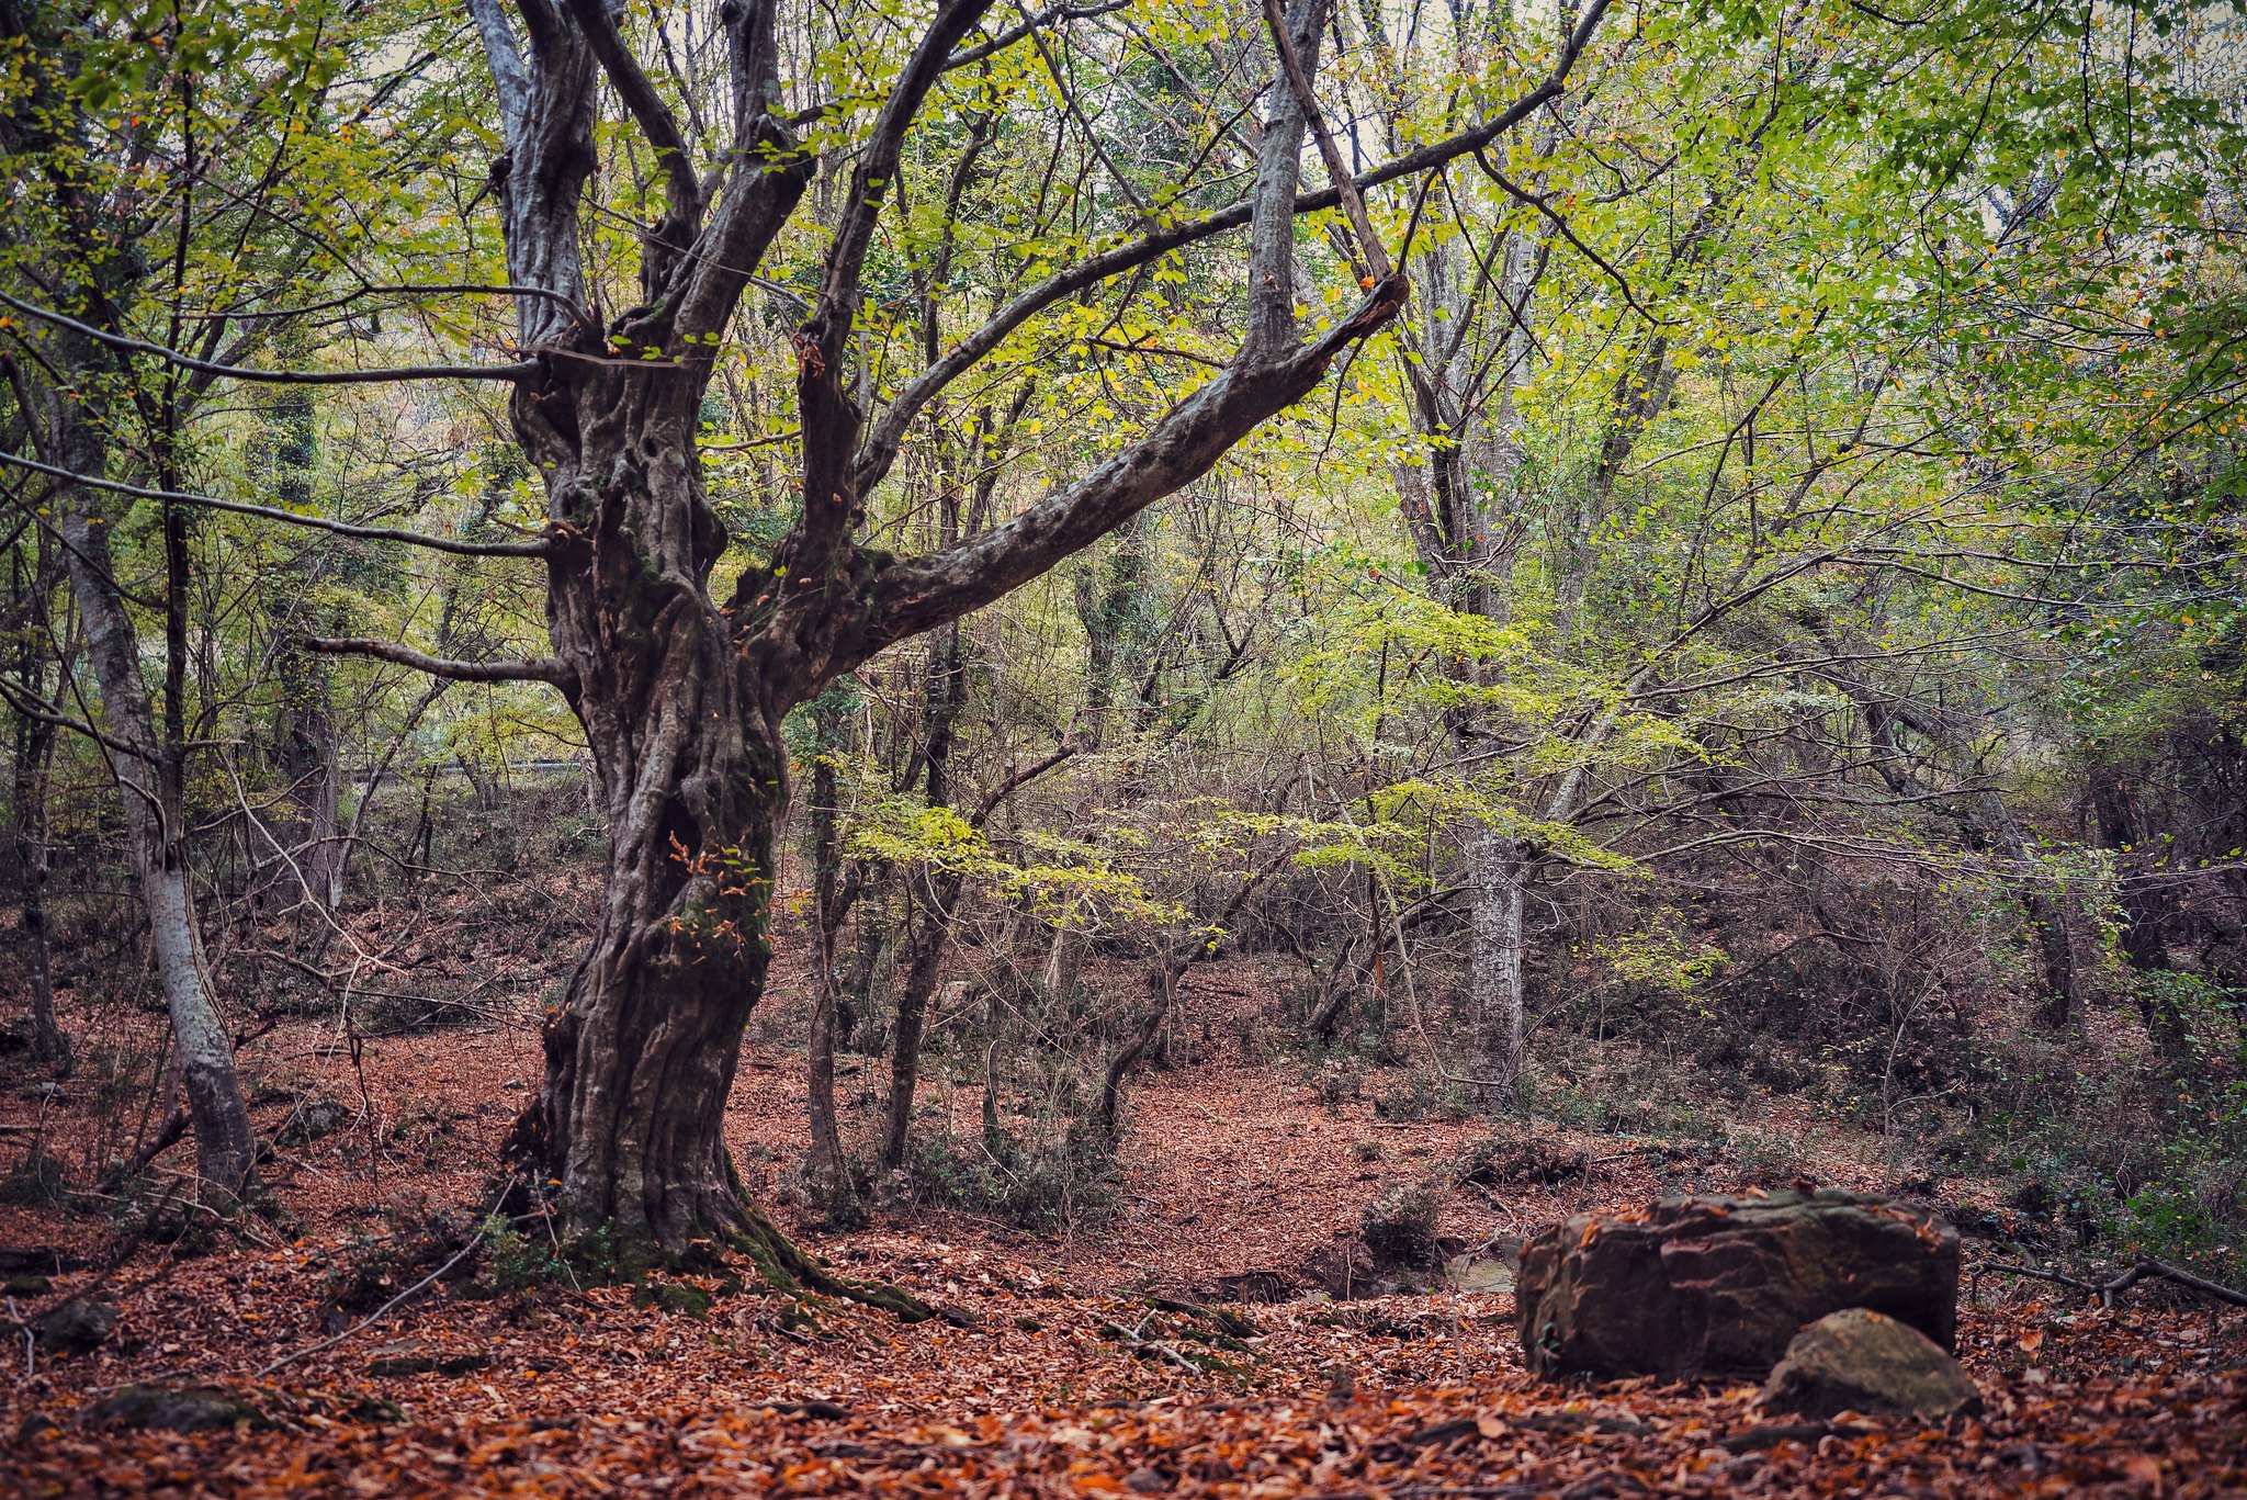
<path fill-rule="evenodd" d="M 879 414 L 861 409 L 854 360 L 867 254 L 908 139 L 944 74 L 1052 25 L 980 34 L 989 0 L 939 0 L 867 128 L 816 290 L 793 335 L 800 513 L 766 564 L 712 578 L 728 537 L 706 493 L 697 430 L 735 310 L 775 241 L 809 216 L 820 166 L 780 81 L 777 0 L 719 11 L 730 61 L 730 144 L 694 160 L 688 130 L 643 70 L 620 11 L 602 0 L 472 0 L 497 81 L 506 155 L 492 180 L 517 288 L 517 335 L 535 373 L 512 398 L 517 436 L 548 495 L 553 659 L 445 663 L 402 648 L 326 641 L 463 677 L 553 681 L 584 722 L 613 828 L 593 947 L 546 1030 L 546 1079 L 510 1149 L 560 1190 L 580 1228 L 681 1246 L 706 1235 L 762 1241 L 807 1271 L 755 1214 L 726 1154 L 721 1120 L 742 1030 L 764 987 L 775 830 L 786 798 L 782 717 L 838 672 L 933 630 L 1020 582 L 1207 472 L 1265 418 L 1301 400 L 1337 353 L 1382 328 L 1402 279 L 1364 277 L 1346 317 L 1306 333 L 1297 216 L 1359 189 L 1413 178 L 1490 142 L 1559 94 L 1600 4 L 1555 72 L 1503 115 L 1323 191 L 1301 191 L 1317 124 L 1326 0 L 1294 0 L 1258 40 L 1263 92 L 1247 198 L 1216 214 L 1155 218 L 1027 286 Z M 1243 16 L 1243 40 L 1263 18 Z M 1292 56 L 1290 56 L 1292 54 Z M 1281 67 L 1285 56 L 1288 67 Z M 602 317 L 586 265 L 582 202 L 595 171 L 600 90 L 622 103 L 663 173 L 663 207 L 638 236 L 638 301 Z M 926 126 L 937 135 L 935 124 Z M 919 144 L 919 142 L 917 142 Z M 939 142 L 941 144 L 941 142 Z M 930 151 L 939 144 L 928 146 Z M 1332 137 L 1326 139 L 1328 162 Z M 831 148 L 831 146 L 829 146 Z M 1238 344 L 1126 448 L 1013 519 L 955 546 L 897 558 L 861 540 L 865 499 L 912 425 L 1043 310 L 1150 265 L 1162 254 L 1247 232 Z"/>

